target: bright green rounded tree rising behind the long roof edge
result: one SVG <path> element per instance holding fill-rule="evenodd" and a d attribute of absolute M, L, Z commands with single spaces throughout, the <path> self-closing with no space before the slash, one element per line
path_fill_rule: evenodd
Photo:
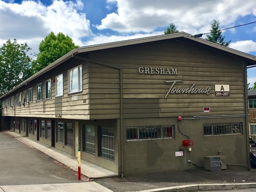
<path fill-rule="evenodd" d="M 54 62 L 67 52 L 79 47 L 73 43 L 73 40 L 62 32 L 55 35 L 50 32 L 39 44 L 39 53 L 37 58 L 32 61 L 34 72 L 38 72 L 45 66 Z"/>

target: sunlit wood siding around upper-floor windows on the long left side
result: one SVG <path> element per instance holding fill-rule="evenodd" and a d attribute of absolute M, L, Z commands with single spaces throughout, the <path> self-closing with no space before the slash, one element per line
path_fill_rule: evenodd
<path fill-rule="evenodd" d="M 67 90 L 67 71 L 82 64 L 82 91 L 68 94 Z M 55 79 L 56 75 L 63 74 L 63 96 L 55 97 Z M 51 98 L 45 99 L 45 81 L 51 79 Z M 36 85 L 42 83 L 42 100 L 36 100 Z M 28 102 L 28 89 L 33 89 L 33 101 Z M 58 69 L 51 70 L 34 81 L 29 82 L 26 86 L 22 86 L 14 94 L 27 90 L 27 103 L 23 106 L 14 105 L 7 107 L 7 115 L 24 116 L 24 117 L 45 117 L 45 118 L 89 118 L 89 101 L 88 101 L 88 68 L 87 62 L 71 59 L 64 62 Z M 72 96 L 77 96 L 77 100 L 72 100 Z M 15 100 L 15 99 L 14 99 Z M 60 116 L 59 116 L 60 115 Z"/>

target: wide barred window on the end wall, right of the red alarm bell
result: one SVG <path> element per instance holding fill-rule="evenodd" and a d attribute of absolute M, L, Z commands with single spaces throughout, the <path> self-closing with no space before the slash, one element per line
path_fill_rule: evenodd
<path fill-rule="evenodd" d="M 205 123 L 203 135 L 242 134 L 242 122 Z"/>

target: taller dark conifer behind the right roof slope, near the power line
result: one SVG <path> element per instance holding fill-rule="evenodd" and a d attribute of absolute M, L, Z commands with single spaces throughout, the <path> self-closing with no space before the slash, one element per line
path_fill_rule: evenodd
<path fill-rule="evenodd" d="M 225 36 L 221 35 L 221 28 L 219 26 L 220 22 L 218 20 L 213 20 L 211 23 L 211 29 L 210 29 L 210 34 L 206 34 L 206 40 L 210 42 L 214 42 L 216 44 L 220 44 L 222 46 L 228 46 L 231 40 L 229 41 L 224 41 Z"/>

